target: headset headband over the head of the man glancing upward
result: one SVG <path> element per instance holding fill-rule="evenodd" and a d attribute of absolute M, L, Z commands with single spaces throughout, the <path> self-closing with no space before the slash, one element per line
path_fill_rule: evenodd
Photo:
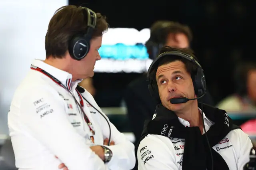
<path fill-rule="evenodd" d="M 150 73 L 152 72 L 152 69 L 154 69 L 154 67 L 156 66 L 156 63 L 158 63 L 160 61 L 160 59 L 162 59 L 164 56 L 166 55 L 174 55 L 174 56 L 180 56 L 182 58 L 185 58 L 189 61 L 192 61 L 193 63 L 195 63 L 198 68 L 202 68 L 202 66 L 198 63 L 198 61 L 196 61 L 196 59 L 194 59 L 194 57 L 192 57 L 191 55 L 188 55 L 186 53 L 183 53 L 181 51 L 167 51 L 167 52 L 163 52 L 160 55 L 158 55 L 158 57 L 151 63 L 149 69 L 148 69 L 148 73 L 147 73 L 147 80 L 150 80 Z"/>

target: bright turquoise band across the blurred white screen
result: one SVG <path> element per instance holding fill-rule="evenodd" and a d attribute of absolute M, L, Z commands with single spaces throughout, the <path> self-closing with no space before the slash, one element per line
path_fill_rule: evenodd
<path fill-rule="evenodd" d="M 99 50 L 102 58 L 127 60 L 127 59 L 148 59 L 148 51 L 145 45 L 125 45 L 118 43 L 116 45 L 102 45 Z"/>

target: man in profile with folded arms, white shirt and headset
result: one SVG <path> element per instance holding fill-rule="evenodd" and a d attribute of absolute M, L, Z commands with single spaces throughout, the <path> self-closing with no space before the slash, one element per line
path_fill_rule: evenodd
<path fill-rule="evenodd" d="M 70 170 L 134 167 L 134 145 L 77 86 L 94 75 L 107 29 L 106 18 L 85 7 L 61 7 L 50 20 L 46 59 L 33 61 L 8 113 L 20 170 L 58 170 L 61 163 Z"/>

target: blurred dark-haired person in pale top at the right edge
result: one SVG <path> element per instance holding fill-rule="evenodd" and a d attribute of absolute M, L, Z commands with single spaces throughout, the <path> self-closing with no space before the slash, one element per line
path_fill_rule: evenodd
<path fill-rule="evenodd" d="M 234 77 L 236 93 L 220 101 L 217 107 L 227 112 L 256 113 L 256 63 L 242 62 Z"/>

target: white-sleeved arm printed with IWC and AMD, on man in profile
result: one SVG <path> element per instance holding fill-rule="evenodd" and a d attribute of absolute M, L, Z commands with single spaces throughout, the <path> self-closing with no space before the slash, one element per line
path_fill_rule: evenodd
<path fill-rule="evenodd" d="M 56 91 L 31 89 L 21 101 L 20 113 L 20 121 L 28 132 L 70 170 L 108 169 L 68 121 L 65 103 Z"/>

